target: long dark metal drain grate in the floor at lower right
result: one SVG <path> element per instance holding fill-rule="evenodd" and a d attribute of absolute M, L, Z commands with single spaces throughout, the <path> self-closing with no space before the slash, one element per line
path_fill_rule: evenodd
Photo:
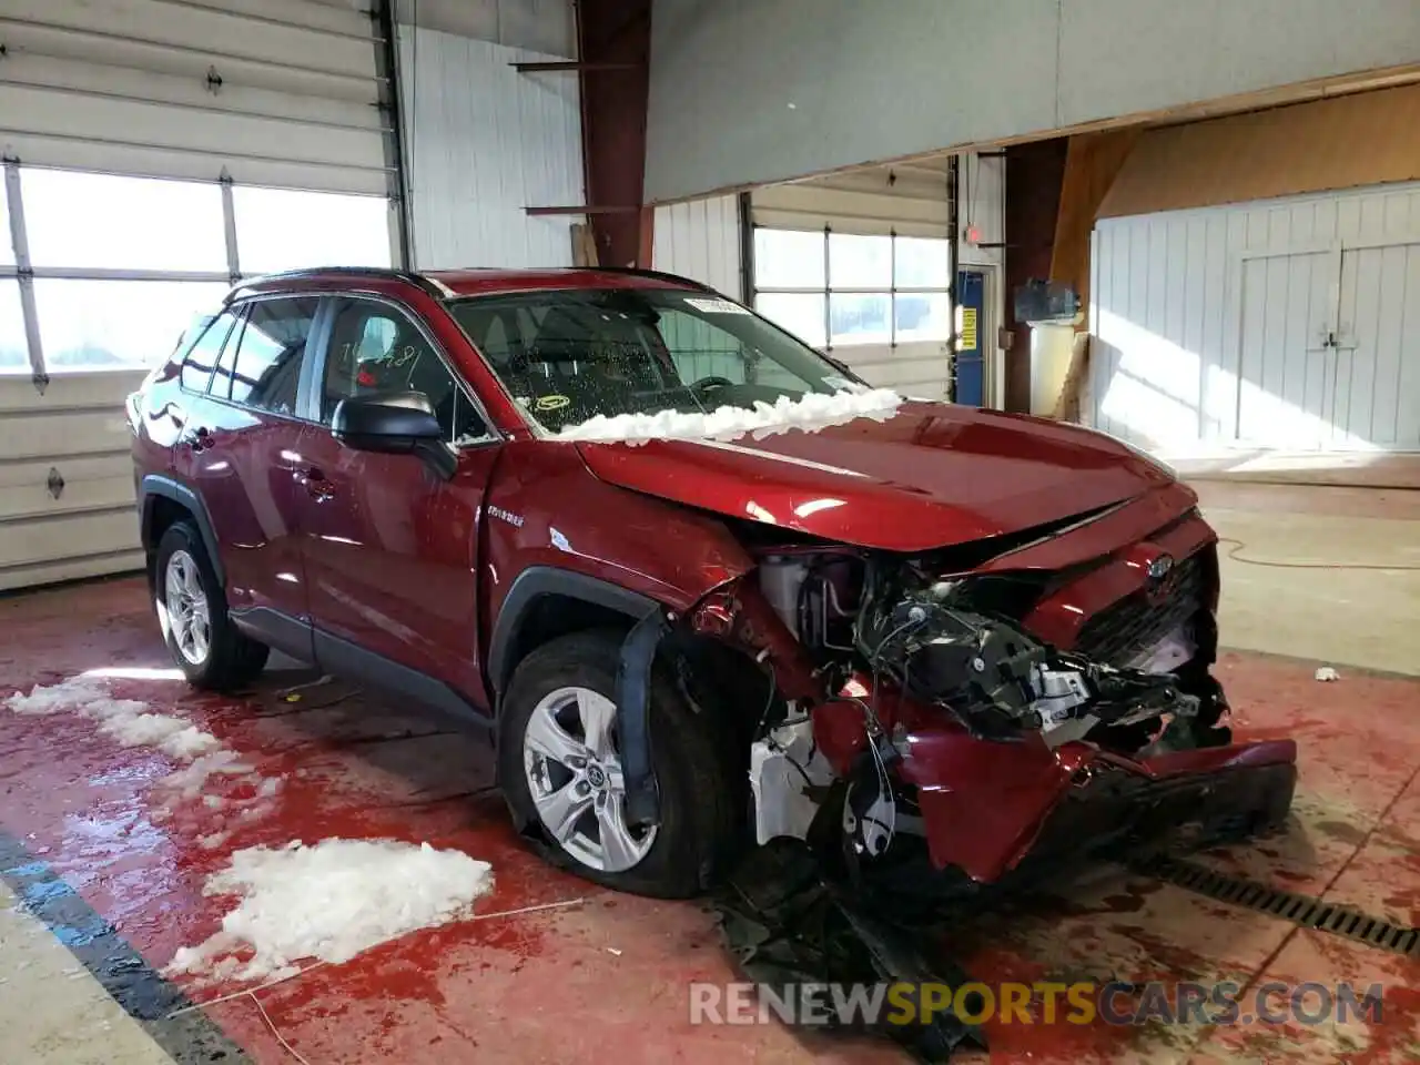
<path fill-rule="evenodd" d="M 1130 862 L 1129 868 L 1230 906 L 1289 920 L 1304 929 L 1343 936 L 1392 954 L 1420 957 L 1420 929 L 1392 924 L 1382 917 L 1322 902 L 1311 895 L 1282 892 L 1257 880 L 1225 876 L 1207 866 L 1166 855 L 1152 855 Z"/>

